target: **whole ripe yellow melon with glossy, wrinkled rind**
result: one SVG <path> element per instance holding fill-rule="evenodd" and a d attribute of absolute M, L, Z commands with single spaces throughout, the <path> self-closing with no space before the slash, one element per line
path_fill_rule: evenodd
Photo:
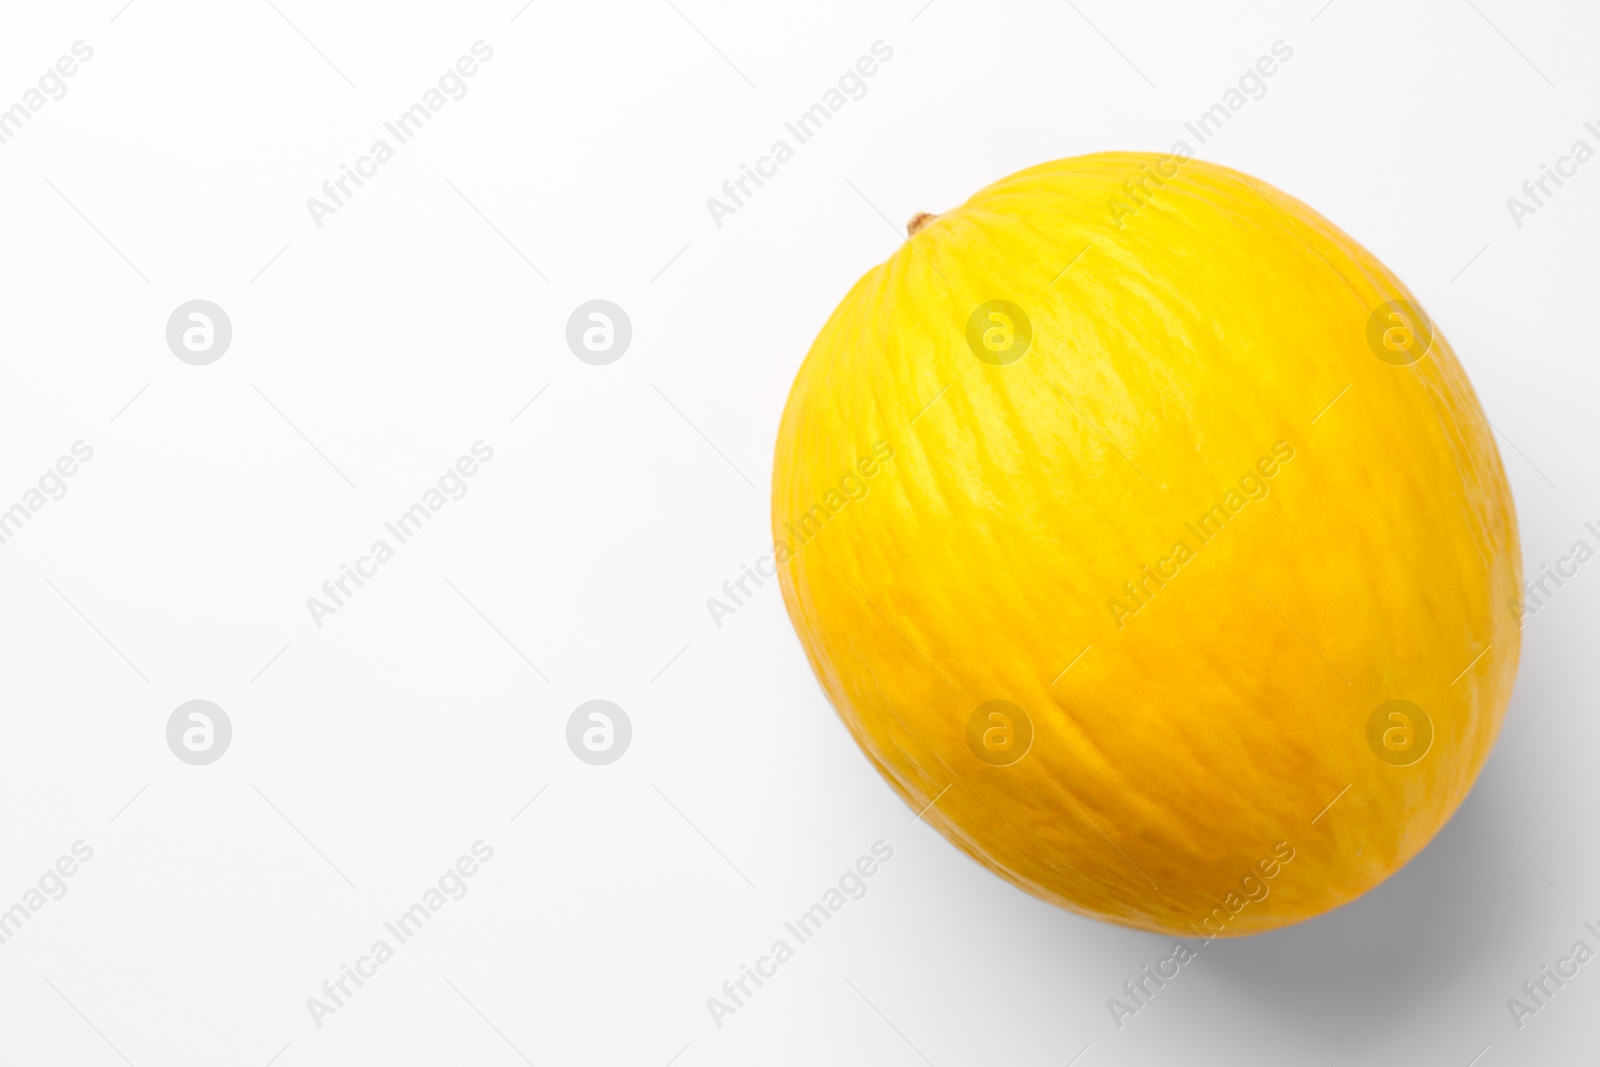
<path fill-rule="evenodd" d="M 1520 649 L 1510 490 L 1440 325 L 1187 154 L 907 229 L 773 467 L 784 603 L 867 760 L 998 877 L 1141 929 L 1274 929 L 1400 869 Z"/>

